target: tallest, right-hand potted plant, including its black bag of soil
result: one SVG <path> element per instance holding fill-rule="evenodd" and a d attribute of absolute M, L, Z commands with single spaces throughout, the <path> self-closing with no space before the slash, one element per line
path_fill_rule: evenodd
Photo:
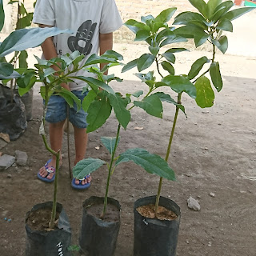
<path fill-rule="evenodd" d="M 125 23 L 136 34 L 135 41 L 145 41 L 149 45 L 149 52 L 126 64 L 122 71 L 125 72 L 137 67 L 140 73 L 136 75 L 150 87 L 150 93 L 158 90 L 152 95 L 158 97 L 162 102 L 174 104 L 176 109 L 166 150 L 166 162 L 169 160 L 178 112 L 182 110 L 185 113 L 185 108 L 182 106 L 182 94 L 186 93 L 194 98 L 198 106 L 202 108 L 213 106 L 214 90 L 212 86 L 218 92 L 222 90 L 222 76 L 219 63 L 215 59 L 216 50 L 218 49 L 225 54 L 228 46 L 227 37 L 222 32 L 232 32 L 231 21 L 253 10 L 253 8 L 230 10 L 234 6 L 232 1 L 210 0 L 207 3 L 203 0 L 189 1 L 198 12 L 186 11 L 178 14 L 174 18 L 173 24 L 182 25 L 178 28 L 167 24 L 176 8 L 163 10 L 156 18 L 148 15 L 142 17 L 141 22 L 130 19 Z M 209 59 L 206 56 L 198 58 L 191 66 L 188 74 L 176 74 L 174 69 L 176 57 L 174 54 L 186 49 L 166 48 L 166 46 L 170 46 L 172 43 L 186 42 L 186 38 L 194 38 L 196 47 L 210 42 L 212 58 Z M 153 64 L 155 64 L 155 71 L 158 76 L 161 77 L 160 81 L 154 77 L 154 71 L 147 74 L 141 73 L 142 70 L 150 68 Z M 206 76 L 207 74 L 210 74 L 210 78 Z M 177 94 L 176 101 L 169 94 L 161 92 L 163 86 L 170 87 Z M 137 106 L 139 105 L 137 104 Z M 151 107 L 155 108 L 152 102 Z M 148 112 L 145 107 L 142 108 Z M 156 196 L 140 198 L 134 203 L 134 256 L 170 256 L 176 254 L 180 209 L 172 200 L 160 197 L 162 180 L 163 177 L 160 178 Z M 170 218 L 163 216 L 166 210 L 173 212 L 170 214 Z"/>

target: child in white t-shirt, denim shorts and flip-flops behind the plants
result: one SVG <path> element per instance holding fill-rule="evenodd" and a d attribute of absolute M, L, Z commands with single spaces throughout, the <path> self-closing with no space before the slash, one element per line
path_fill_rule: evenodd
<path fill-rule="evenodd" d="M 43 58 L 60 57 L 62 54 L 78 50 L 86 59 L 91 54 L 104 54 L 112 50 L 113 32 L 122 26 L 114 0 L 38 0 L 34 9 L 33 22 L 40 27 L 56 26 L 61 30 L 70 29 L 74 34 L 58 34 L 54 38 L 47 38 L 42 43 Z M 101 68 L 103 65 L 101 65 Z M 57 70 L 57 67 L 54 66 Z M 85 70 L 76 74 L 93 77 Z M 69 84 L 62 83 L 62 87 L 71 90 L 83 100 L 82 94 L 85 82 L 75 80 Z M 50 145 L 54 151 L 62 149 L 63 126 L 66 120 L 66 101 L 52 95 L 47 105 L 46 121 L 49 122 Z M 70 108 L 70 122 L 74 126 L 75 160 L 74 165 L 82 160 L 86 154 L 88 135 L 86 134 L 86 113 L 81 109 Z M 38 178 L 44 182 L 54 181 L 56 158 L 53 156 L 38 172 Z M 71 185 L 76 189 L 86 189 L 90 186 L 90 175 L 83 180 L 73 180 Z"/>

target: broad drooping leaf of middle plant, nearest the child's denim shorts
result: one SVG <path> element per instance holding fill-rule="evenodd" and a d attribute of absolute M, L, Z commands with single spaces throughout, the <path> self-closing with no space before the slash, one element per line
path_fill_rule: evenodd
<path fill-rule="evenodd" d="M 101 127 L 111 114 L 112 106 L 106 98 L 107 93 L 105 91 L 102 91 L 101 93 L 101 98 L 91 102 L 88 108 L 88 116 L 86 121 L 89 125 L 86 129 L 87 133 L 90 133 L 91 131 L 97 130 L 99 127 Z"/>

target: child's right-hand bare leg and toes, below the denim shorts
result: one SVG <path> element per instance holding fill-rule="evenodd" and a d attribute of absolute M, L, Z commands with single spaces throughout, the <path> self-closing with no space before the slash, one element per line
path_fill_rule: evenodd
<path fill-rule="evenodd" d="M 86 155 L 86 147 L 88 141 L 88 134 L 86 134 L 86 128 L 78 128 L 74 126 L 74 145 L 75 145 L 75 159 L 74 165 L 77 164 L 80 160 L 85 158 Z M 82 185 L 89 183 L 91 178 L 84 179 L 81 183 Z M 79 184 L 79 180 L 75 180 L 76 184 Z"/>

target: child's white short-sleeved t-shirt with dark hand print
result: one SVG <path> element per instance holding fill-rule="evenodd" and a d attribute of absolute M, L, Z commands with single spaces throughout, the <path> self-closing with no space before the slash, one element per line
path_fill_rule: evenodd
<path fill-rule="evenodd" d="M 122 26 L 114 0 L 38 0 L 33 22 L 74 31 L 55 36 L 54 45 L 58 56 L 79 50 L 86 55 L 83 63 L 91 54 L 98 54 L 99 34 L 114 32 Z M 85 70 L 74 75 L 94 76 Z M 70 83 L 71 90 L 82 90 L 83 86 L 85 82 L 80 80 Z"/>

